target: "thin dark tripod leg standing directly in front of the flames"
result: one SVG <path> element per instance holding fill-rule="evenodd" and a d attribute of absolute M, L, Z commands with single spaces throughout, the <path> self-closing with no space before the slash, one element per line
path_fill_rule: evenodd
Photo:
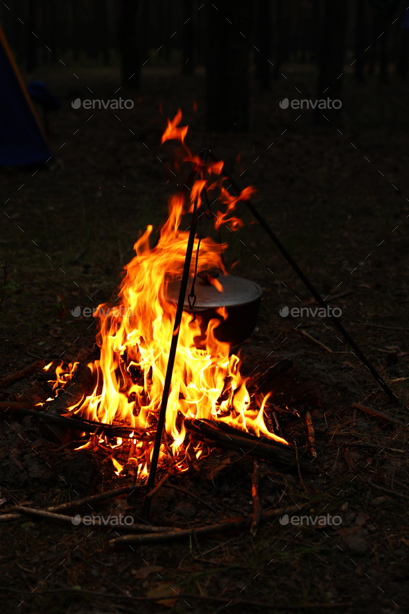
<path fill-rule="evenodd" d="M 189 282 L 189 272 L 191 266 L 191 259 L 193 253 L 193 246 L 195 243 L 196 226 L 198 224 L 198 197 L 195 198 L 193 204 L 193 214 L 191 221 L 191 228 L 189 232 L 189 239 L 187 241 L 186 256 L 184 258 L 184 267 L 182 273 L 182 282 L 180 283 L 179 298 L 177 300 L 177 309 L 175 315 L 175 323 L 173 325 L 173 334 L 171 342 L 171 350 L 169 352 L 168 366 L 166 368 L 164 391 L 162 393 L 162 402 L 159 410 L 159 418 L 157 420 L 157 429 L 155 436 L 155 443 L 153 445 L 152 460 L 150 461 L 150 471 L 148 482 L 146 484 L 145 501 L 143 502 L 143 518 L 148 520 L 150 512 L 151 499 L 148 496 L 155 484 L 155 475 L 157 470 L 157 461 L 159 459 L 159 450 L 162 443 L 162 433 L 164 430 L 166 408 L 168 407 L 168 397 L 171 391 L 171 381 L 173 374 L 173 366 L 175 365 L 175 356 L 177 350 L 177 341 L 179 339 L 180 323 L 182 322 L 182 314 L 184 308 L 184 298 L 186 296 L 187 284 Z"/>

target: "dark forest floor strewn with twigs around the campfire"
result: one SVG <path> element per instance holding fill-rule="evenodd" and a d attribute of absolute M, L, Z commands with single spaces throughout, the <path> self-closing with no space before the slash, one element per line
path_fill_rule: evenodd
<path fill-rule="evenodd" d="M 156 67 L 136 95 L 114 94 L 112 69 L 30 76 L 64 101 L 50 117 L 49 142 L 60 162 L 53 171 L 0 171 L 0 258 L 8 270 L 6 283 L 0 280 L 0 368 L 5 375 L 37 357 L 74 360 L 92 348 L 94 321 L 71 310 L 109 300 L 141 230 L 164 221 L 177 180 L 168 170 L 172 146 L 159 142 L 166 118 L 180 107 L 191 150 L 212 148 L 243 187 L 256 187 L 254 204 L 318 291 L 333 297 L 331 306 L 342 309 L 345 327 L 401 400 L 390 404 L 325 318 L 279 315 L 284 306 L 314 304 L 243 211 L 244 228 L 228 237 L 227 268 L 237 263 L 237 275 L 264 289 L 258 327 L 241 348 L 243 375 L 257 364 L 293 359 L 275 384 L 275 402 L 311 411 L 317 440 L 311 477 L 261 463 L 263 508 L 311 502 L 308 515 L 340 515 L 342 525 L 283 526 L 274 519 L 256 537 L 242 531 L 131 549 L 112 547 L 112 531 L 21 518 L 0 524 L 4 611 L 207 613 L 234 606 L 244 613 L 258 611 L 259 602 L 277 612 L 308 604 L 312 611 L 320 604 L 345 613 L 409 612 L 407 429 L 353 407 L 409 422 L 408 84 L 393 77 L 381 86 L 372 77 L 358 85 L 347 74 L 343 126 L 317 127 L 311 111 L 279 108 L 281 99 L 300 97 L 296 87 L 302 98 L 315 98 L 315 72 L 284 72 L 271 92 L 252 83 L 249 133 L 225 135 L 204 128 L 201 71 L 186 77 Z M 78 96 L 120 94 L 134 99 L 132 110 L 71 108 Z M 44 395 L 33 380 L 4 389 L 0 402 Z M 304 422 L 298 428 L 306 440 Z M 214 479 L 209 468 L 168 479 L 153 503 L 155 523 L 194 527 L 251 513 L 252 459 L 225 450 L 210 458 L 223 466 Z M 1 423 L 1 511 L 14 504 L 43 509 L 128 483 L 98 454 L 42 439 L 31 418 Z M 118 507 L 139 518 L 141 497 L 94 512 Z M 166 604 L 149 600 L 169 594 L 175 599 Z"/>

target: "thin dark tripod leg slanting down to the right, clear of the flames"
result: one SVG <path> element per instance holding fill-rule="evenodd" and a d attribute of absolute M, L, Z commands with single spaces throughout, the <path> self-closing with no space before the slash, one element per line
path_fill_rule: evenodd
<path fill-rule="evenodd" d="M 214 160 L 214 162 L 218 162 L 218 159 L 216 158 L 214 153 L 210 152 L 209 155 Z M 229 182 L 229 184 L 232 186 L 236 194 L 238 195 L 241 194 L 241 189 L 238 188 L 238 186 L 236 185 L 232 177 L 229 176 L 228 173 L 226 173 L 224 166 L 222 169 L 222 173 L 225 176 L 226 180 Z M 254 205 L 250 203 L 250 201 L 245 200 L 245 198 L 243 198 L 243 203 L 246 205 L 247 209 L 250 210 L 254 218 L 259 222 L 259 224 L 261 225 L 261 228 L 263 228 L 263 230 L 268 234 L 268 237 L 270 237 L 273 243 L 280 250 L 281 254 L 284 256 L 288 264 L 290 264 L 290 266 L 293 268 L 295 273 L 297 273 L 299 279 L 302 280 L 304 286 L 306 286 L 306 288 L 311 292 L 311 294 L 313 295 L 317 303 L 319 303 L 319 305 L 324 307 L 324 309 L 327 309 L 327 306 L 328 306 L 327 303 L 324 301 L 324 299 L 322 298 L 320 293 L 317 291 L 317 289 L 315 289 L 313 284 L 311 284 L 310 280 L 308 280 L 308 278 L 306 277 L 304 272 L 301 270 L 301 268 L 299 268 L 297 262 L 295 262 L 295 260 L 293 260 L 293 257 L 290 256 L 290 254 L 288 253 L 284 245 L 281 244 L 281 241 L 278 239 L 275 233 L 272 232 L 266 220 L 256 210 L 256 207 L 254 207 Z M 333 325 L 335 325 L 336 328 L 338 328 L 338 330 L 340 331 L 344 339 L 349 343 L 349 346 L 351 346 L 354 352 L 356 352 L 356 355 L 360 358 L 360 361 L 362 361 L 365 367 L 367 368 L 367 370 L 369 370 L 369 373 L 371 373 L 374 379 L 381 385 L 381 387 L 383 388 L 385 393 L 388 395 L 390 400 L 392 400 L 392 402 L 399 401 L 397 395 L 394 392 L 392 392 L 388 384 L 386 384 L 381 378 L 381 376 L 378 374 L 378 372 L 376 371 L 372 363 L 369 362 L 369 360 L 365 357 L 365 355 L 360 350 L 360 348 L 356 345 L 355 341 L 351 339 L 351 336 L 349 335 L 347 330 L 345 330 L 345 328 L 342 326 L 339 319 L 333 316 L 333 314 L 331 314 L 329 317 L 331 318 Z"/>

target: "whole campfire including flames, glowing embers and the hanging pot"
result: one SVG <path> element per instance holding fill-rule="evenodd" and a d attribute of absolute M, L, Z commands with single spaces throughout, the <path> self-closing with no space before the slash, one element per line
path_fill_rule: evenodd
<path fill-rule="evenodd" d="M 184 298 L 177 330 L 159 464 L 172 463 L 175 471 L 182 472 L 192 455 L 199 459 L 209 452 L 205 441 L 217 441 L 218 435 L 220 441 L 220 434 L 222 439 L 223 434 L 229 439 L 239 436 L 239 443 L 246 440 L 252 446 L 260 440 L 288 445 L 279 430 L 271 427 L 271 420 L 270 428 L 266 424 L 269 395 L 254 394 L 254 382 L 241 375 L 241 359 L 232 352 L 232 344 L 254 330 L 262 290 L 254 282 L 229 275 L 223 262 L 227 244 L 203 232 L 211 225 L 216 232 L 222 225 L 232 232 L 241 228 L 236 203 L 249 198 L 253 189 L 247 187 L 240 196 L 231 196 L 224 185 L 223 162 L 204 161 L 189 151 L 184 142 L 188 128 L 179 127 L 181 119 L 178 112 L 168 121 L 162 143 L 177 139 L 179 160 L 191 164 L 198 179 L 171 197 L 168 218 L 157 241 L 152 225 L 137 239 L 136 255 L 124 268 L 118 298 L 96 309 L 98 353 L 82 365 L 83 372 L 87 370 L 87 384 L 80 386 L 80 398 L 77 394 L 74 402 L 67 404 L 69 395 L 64 395 L 66 386 L 69 391 L 71 382 L 78 376 L 83 379 L 78 363 L 66 369 L 58 366 L 53 383 L 60 392 L 58 399 L 65 404 L 65 418 L 79 419 L 84 427 L 94 426 L 94 430 L 85 431 L 87 441 L 81 447 L 97 444 L 121 452 L 130 440 L 126 465 L 141 479 L 150 470 L 175 335 L 177 295 L 189 243 L 185 216 L 192 213 L 195 203 L 200 207 L 201 228 L 193 239 L 190 293 Z M 217 212 L 211 210 L 210 200 L 217 200 Z M 95 429 L 98 425 L 103 429 Z M 121 436 L 116 436 L 119 433 Z M 120 474 L 123 464 L 116 454 L 112 454 L 112 462 Z"/>

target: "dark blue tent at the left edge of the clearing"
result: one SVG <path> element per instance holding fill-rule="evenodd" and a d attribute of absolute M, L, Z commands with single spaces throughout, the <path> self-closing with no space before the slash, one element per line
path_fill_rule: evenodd
<path fill-rule="evenodd" d="M 0 26 L 0 166 L 53 157 Z"/>

